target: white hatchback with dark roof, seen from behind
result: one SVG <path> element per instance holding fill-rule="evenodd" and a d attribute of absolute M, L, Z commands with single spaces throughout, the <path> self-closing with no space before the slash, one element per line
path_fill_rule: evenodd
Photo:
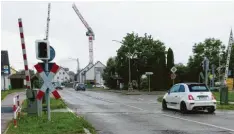
<path fill-rule="evenodd" d="M 179 83 L 164 95 L 162 108 L 177 109 L 182 113 L 200 110 L 213 113 L 216 110 L 216 99 L 205 84 Z"/>

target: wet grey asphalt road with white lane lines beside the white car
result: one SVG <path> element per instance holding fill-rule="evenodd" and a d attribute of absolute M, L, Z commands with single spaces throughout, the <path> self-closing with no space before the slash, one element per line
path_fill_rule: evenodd
<path fill-rule="evenodd" d="M 60 91 L 68 107 L 99 134 L 234 134 L 234 111 L 215 114 L 161 110 L 156 95 L 101 91 Z"/>

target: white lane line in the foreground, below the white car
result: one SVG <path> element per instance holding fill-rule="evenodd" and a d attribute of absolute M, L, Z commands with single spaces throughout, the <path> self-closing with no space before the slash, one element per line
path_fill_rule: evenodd
<path fill-rule="evenodd" d="M 194 123 L 197 123 L 197 124 L 201 124 L 201 125 L 205 125 L 205 126 L 210 126 L 210 127 L 215 127 L 215 128 L 219 128 L 219 129 L 223 129 L 223 130 L 228 130 L 228 131 L 234 132 L 233 129 L 229 129 L 229 128 L 225 128 L 225 127 L 220 127 L 220 126 L 216 126 L 216 125 L 213 125 L 213 124 L 208 124 L 208 123 L 199 122 L 199 121 L 195 121 L 195 120 L 185 119 L 185 118 L 181 118 L 181 117 L 175 117 L 175 116 L 171 116 L 171 115 L 168 115 L 168 114 L 162 114 L 162 115 L 167 116 L 167 117 L 171 117 L 171 118 L 175 118 L 175 119 L 180 119 L 180 120 L 184 120 L 184 121 L 188 121 L 188 122 L 194 122 Z"/>

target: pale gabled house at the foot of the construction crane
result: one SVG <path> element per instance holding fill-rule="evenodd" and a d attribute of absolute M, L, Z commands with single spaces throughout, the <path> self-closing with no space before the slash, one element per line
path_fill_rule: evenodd
<path fill-rule="evenodd" d="M 100 61 L 97 61 L 95 64 L 89 64 L 84 69 L 82 69 L 79 74 L 80 83 L 90 83 L 90 84 L 103 84 L 103 70 L 106 66 Z"/>

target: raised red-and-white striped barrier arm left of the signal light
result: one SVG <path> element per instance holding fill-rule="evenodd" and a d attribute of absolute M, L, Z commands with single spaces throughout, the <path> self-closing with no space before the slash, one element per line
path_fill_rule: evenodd
<path fill-rule="evenodd" d="M 23 53 L 23 59 L 24 59 L 24 69 L 25 69 L 27 89 L 31 89 L 31 81 L 30 81 L 30 74 L 29 74 L 29 70 L 28 70 L 26 46 L 25 46 L 25 41 L 24 41 L 24 31 L 23 31 L 23 24 L 22 24 L 21 18 L 18 19 L 18 24 L 19 24 L 21 47 L 22 47 L 22 53 Z"/>

